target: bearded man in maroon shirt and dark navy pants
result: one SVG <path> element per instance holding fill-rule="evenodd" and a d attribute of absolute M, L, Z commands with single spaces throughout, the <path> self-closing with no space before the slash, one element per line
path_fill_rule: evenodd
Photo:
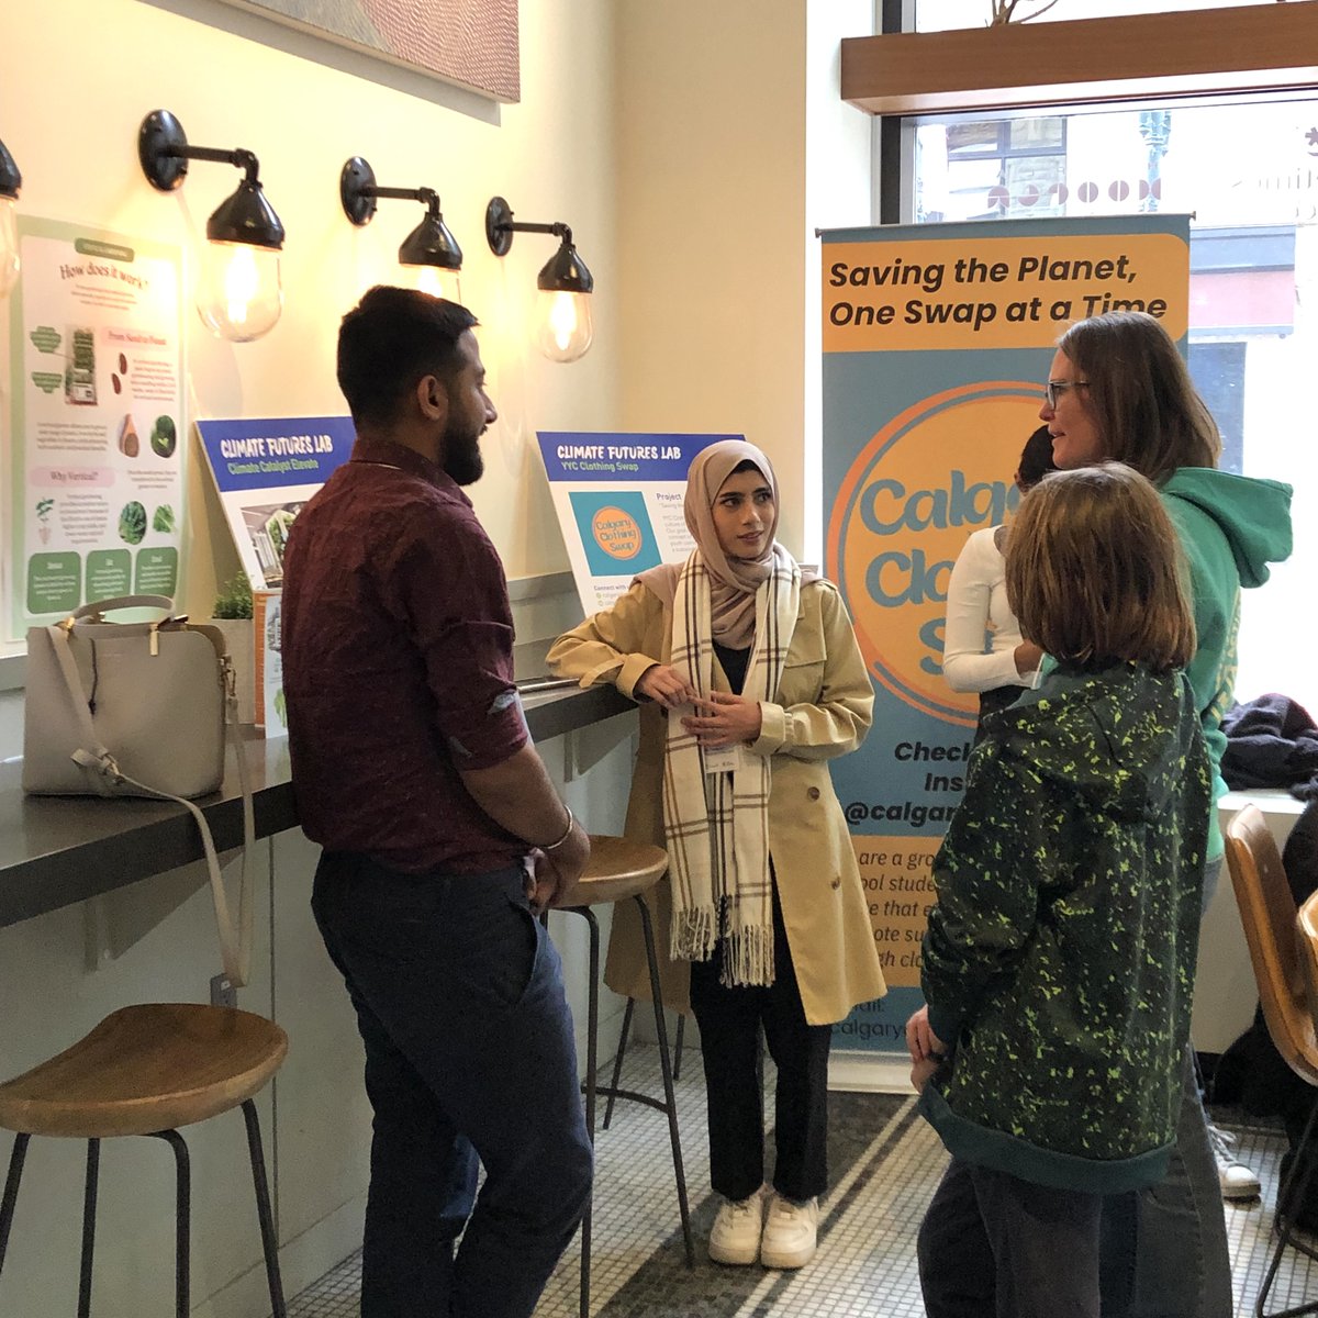
<path fill-rule="evenodd" d="M 527 738 L 503 568 L 460 488 L 496 419 L 474 324 L 393 287 L 344 318 L 357 442 L 285 560 L 293 786 L 324 847 L 312 909 L 374 1108 L 362 1318 L 529 1318 L 590 1190 L 535 917 L 589 842 Z"/>

